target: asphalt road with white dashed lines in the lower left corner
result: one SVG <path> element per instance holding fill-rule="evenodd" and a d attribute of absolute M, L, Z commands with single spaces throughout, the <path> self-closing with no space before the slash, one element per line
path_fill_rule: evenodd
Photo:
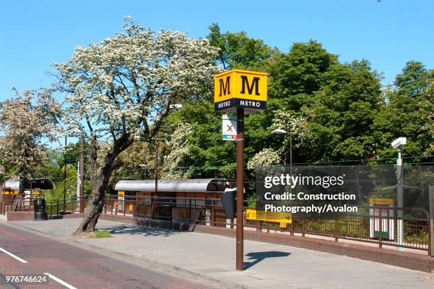
<path fill-rule="evenodd" d="M 27 263 L 23 263 L 27 262 Z M 6 283 L 44 274 L 47 283 Z M 135 265 L 0 223 L 0 288 L 215 288 L 209 283 Z"/>

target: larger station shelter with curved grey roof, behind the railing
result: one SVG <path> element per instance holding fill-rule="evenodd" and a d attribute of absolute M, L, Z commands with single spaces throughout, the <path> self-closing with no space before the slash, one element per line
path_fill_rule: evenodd
<path fill-rule="evenodd" d="M 158 180 L 155 192 L 155 180 L 121 180 L 115 185 L 117 209 L 138 217 L 226 227 L 221 194 L 234 185 L 233 180 L 212 178 Z"/>

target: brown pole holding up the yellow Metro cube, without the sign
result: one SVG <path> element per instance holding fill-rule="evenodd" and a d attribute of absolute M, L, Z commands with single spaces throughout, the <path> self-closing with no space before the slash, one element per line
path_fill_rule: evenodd
<path fill-rule="evenodd" d="M 237 109 L 237 230 L 236 268 L 244 270 L 244 109 Z"/>

